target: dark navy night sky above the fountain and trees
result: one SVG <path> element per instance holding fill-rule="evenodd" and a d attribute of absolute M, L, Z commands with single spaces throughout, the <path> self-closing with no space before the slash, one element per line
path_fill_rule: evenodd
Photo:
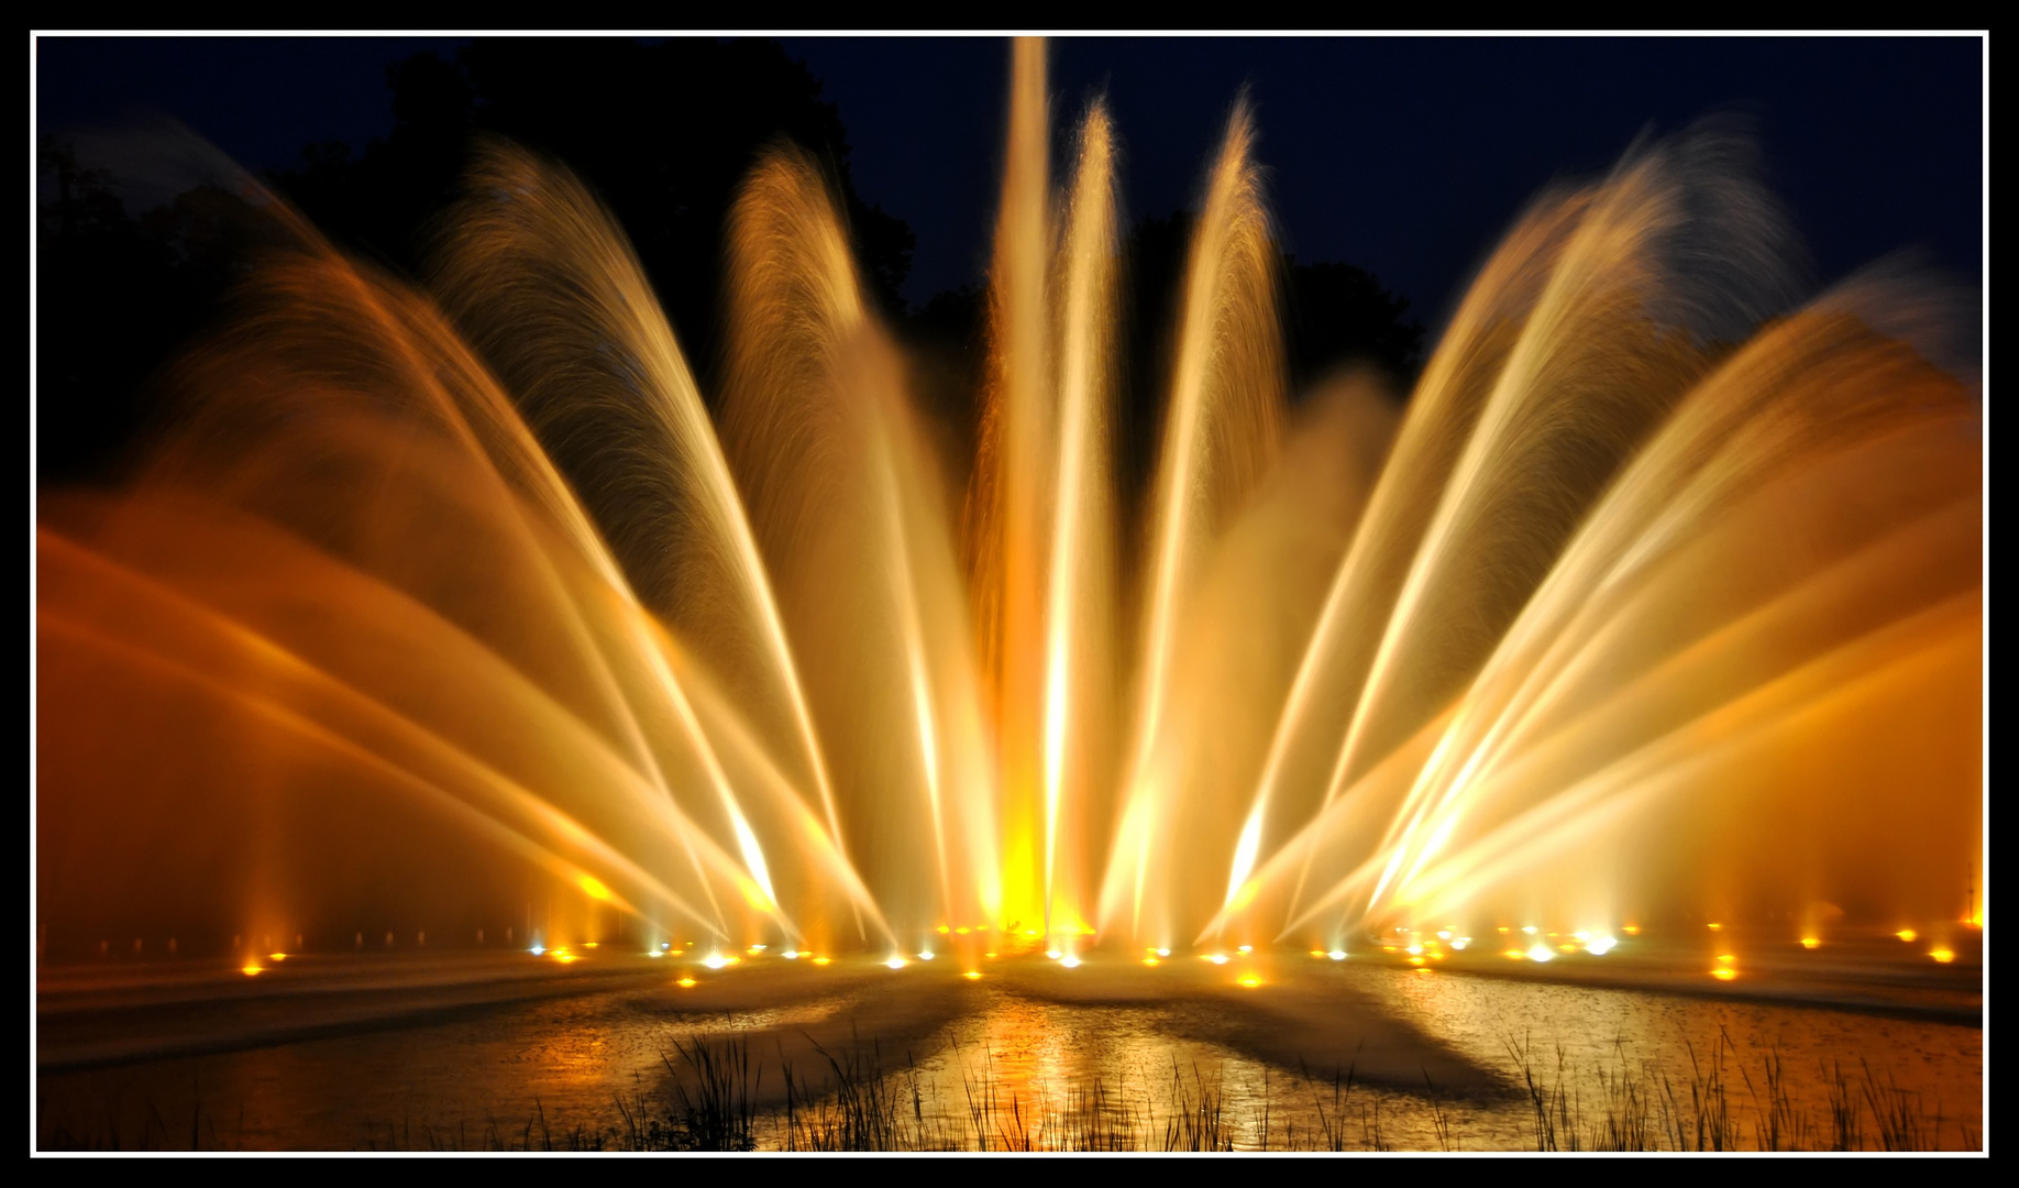
<path fill-rule="evenodd" d="M 911 301 L 979 277 L 1007 48 L 985 38 L 783 38 L 840 107 L 856 186 L 919 234 Z M 184 121 L 252 168 L 392 127 L 384 67 L 456 38 L 44 38 L 38 123 Z M 1199 184 L 1252 87 L 1286 246 L 1373 271 L 1436 319 L 1551 178 L 1643 129 L 1736 111 L 1821 279 L 1898 249 L 1981 283 L 1983 42 L 1954 38 L 1060 38 L 1058 113 L 1104 89 L 1129 210 Z M 666 121 L 705 113 L 660 113 Z M 1064 121 L 1060 121 L 1064 123 Z"/>

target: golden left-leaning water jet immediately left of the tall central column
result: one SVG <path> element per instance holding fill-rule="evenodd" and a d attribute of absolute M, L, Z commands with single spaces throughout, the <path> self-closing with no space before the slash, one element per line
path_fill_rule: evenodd
<path fill-rule="evenodd" d="M 854 812 L 854 853 L 913 927 L 993 921 L 995 782 L 947 493 L 902 360 L 802 156 L 753 172 L 731 220 L 731 275 L 723 436 L 785 622 L 814 659 L 810 701 Z M 890 746 L 890 723 L 907 746 Z M 933 875 L 909 883 L 917 871 Z"/>

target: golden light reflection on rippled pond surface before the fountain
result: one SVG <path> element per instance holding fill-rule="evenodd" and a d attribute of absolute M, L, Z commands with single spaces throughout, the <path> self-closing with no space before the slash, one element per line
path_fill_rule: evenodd
<path fill-rule="evenodd" d="M 1252 996 L 1199 982 L 1131 998 L 1117 980 L 1102 998 L 1070 1000 L 1048 990 L 1046 970 L 905 976 L 900 994 L 870 968 L 798 988 L 751 978 L 735 1010 L 664 976 L 632 978 L 244 1051 L 44 1065 L 36 1142 L 678 1146 L 690 1131 L 674 1081 L 705 1101 L 680 1055 L 697 1043 L 745 1045 L 739 1093 L 759 1150 L 840 1142 L 838 1101 L 858 1113 L 872 1103 L 874 1146 L 937 1150 L 1983 1142 L 1983 1030 L 1967 1022 L 1333 962 L 1276 968 Z M 1300 988 L 1337 1008 L 1300 1014 Z M 1292 1051 L 1345 1057 L 1335 1067 Z M 1417 1079 L 1417 1067 L 1440 1075 Z M 870 1131 L 846 1133 L 860 1144 Z"/>

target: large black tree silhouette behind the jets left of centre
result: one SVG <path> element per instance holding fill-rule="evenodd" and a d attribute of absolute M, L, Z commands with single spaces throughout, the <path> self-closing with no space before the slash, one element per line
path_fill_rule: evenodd
<path fill-rule="evenodd" d="M 610 206 L 707 376 L 729 206 L 759 154 L 791 141 L 828 168 L 864 283 L 890 313 L 905 313 L 898 287 L 913 232 L 856 194 L 840 113 L 775 42 L 497 38 L 472 42 L 452 63 L 410 57 L 388 81 L 386 139 L 355 156 L 317 145 L 275 176 L 339 242 L 418 271 L 474 139 L 519 141 L 575 170 Z"/>

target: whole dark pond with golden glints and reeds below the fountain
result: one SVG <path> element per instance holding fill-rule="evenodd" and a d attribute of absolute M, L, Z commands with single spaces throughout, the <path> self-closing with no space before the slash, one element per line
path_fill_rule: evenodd
<path fill-rule="evenodd" d="M 36 1146 L 1977 1150 L 1985 1133 L 1975 944 L 1942 966 L 1892 937 L 1648 937 L 1549 966 L 1488 942 L 1423 968 L 1379 950 L 1072 970 L 575 956 L 42 970 Z M 1718 956 L 1730 980 L 1710 976 Z"/>

